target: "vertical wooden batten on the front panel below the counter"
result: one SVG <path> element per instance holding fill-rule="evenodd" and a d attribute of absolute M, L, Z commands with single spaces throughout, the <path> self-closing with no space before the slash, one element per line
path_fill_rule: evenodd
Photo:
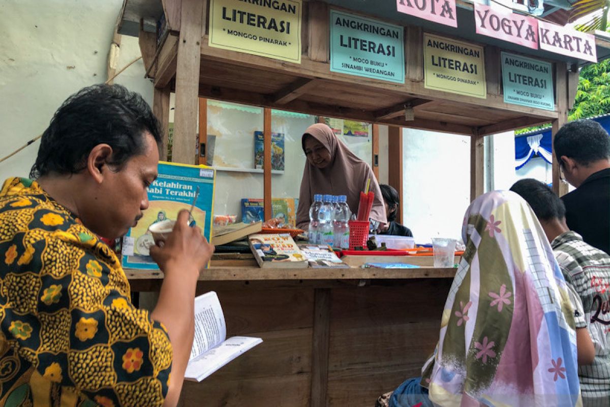
<path fill-rule="evenodd" d="M 331 290 L 314 290 L 314 332 L 311 355 L 311 407 L 328 405 L 328 350 L 331 331 Z"/>

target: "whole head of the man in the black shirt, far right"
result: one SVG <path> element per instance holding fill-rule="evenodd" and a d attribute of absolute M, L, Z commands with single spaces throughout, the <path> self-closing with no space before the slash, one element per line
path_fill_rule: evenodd
<path fill-rule="evenodd" d="M 553 139 L 553 151 L 565 179 L 575 187 L 592 173 L 610 167 L 610 137 L 594 120 L 565 124 Z"/>

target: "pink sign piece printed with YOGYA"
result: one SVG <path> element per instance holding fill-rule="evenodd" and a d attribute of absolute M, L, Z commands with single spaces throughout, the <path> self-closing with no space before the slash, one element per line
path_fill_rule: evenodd
<path fill-rule="evenodd" d="M 475 26 L 476 34 L 538 49 L 538 21 L 536 18 L 475 3 Z"/>

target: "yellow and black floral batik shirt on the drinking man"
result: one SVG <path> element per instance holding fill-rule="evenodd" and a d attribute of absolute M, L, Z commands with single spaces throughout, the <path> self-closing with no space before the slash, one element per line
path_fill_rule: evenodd
<path fill-rule="evenodd" d="M 117 256 L 36 182 L 0 192 L 0 405 L 160 406 L 167 331 Z"/>

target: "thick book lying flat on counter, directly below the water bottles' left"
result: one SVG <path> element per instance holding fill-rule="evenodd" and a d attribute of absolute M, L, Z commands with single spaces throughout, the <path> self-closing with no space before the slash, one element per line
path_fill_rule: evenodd
<path fill-rule="evenodd" d="M 307 268 L 307 259 L 290 234 L 252 234 L 248 243 L 262 268 Z"/>

